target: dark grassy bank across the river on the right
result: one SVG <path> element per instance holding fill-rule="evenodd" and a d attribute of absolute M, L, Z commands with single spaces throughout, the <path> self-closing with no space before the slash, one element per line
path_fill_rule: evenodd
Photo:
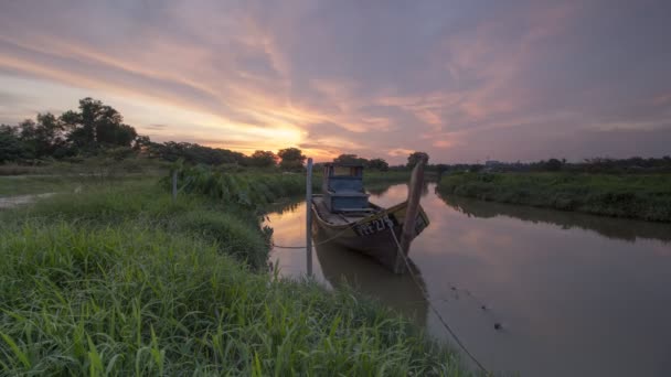
<path fill-rule="evenodd" d="M 671 174 L 452 173 L 444 195 L 671 222 Z"/>

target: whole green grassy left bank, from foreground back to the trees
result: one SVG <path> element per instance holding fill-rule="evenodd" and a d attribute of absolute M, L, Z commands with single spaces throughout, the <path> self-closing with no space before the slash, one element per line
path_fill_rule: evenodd
<path fill-rule="evenodd" d="M 469 375 L 352 291 L 269 276 L 228 194 L 121 180 L 0 212 L 0 374 Z"/>

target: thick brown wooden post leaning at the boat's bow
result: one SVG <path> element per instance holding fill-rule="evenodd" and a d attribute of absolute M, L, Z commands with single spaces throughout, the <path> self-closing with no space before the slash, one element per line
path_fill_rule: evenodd
<path fill-rule="evenodd" d="M 415 238 L 415 222 L 419 214 L 419 198 L 422 197 L 422 187 L 424 185 L 424 165 L 426 164 L 426 158 L 423 158 L 415 169 L 413 169 L 413 175 L 411 176 L 411 185 L 407 192 L 407 207 L 405 209 L 405 220 L 403 222 L 403 229 L 401 230 L 401 250 L 403 255 L 396 255 L 396 262 L 394 263 L 394 272 L 405 272 L 405 258 L 411 248 L 411 241 Z"/>

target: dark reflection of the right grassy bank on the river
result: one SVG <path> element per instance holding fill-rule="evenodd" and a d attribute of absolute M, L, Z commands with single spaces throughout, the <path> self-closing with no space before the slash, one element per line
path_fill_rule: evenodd
<path fill-rule="evenodd" d="M 630 243 L 639 238 L 658 239 L 663 243 L 671 241 L 671 227 L 668 224 L 594 216 L 437 194 L 448 206 L 468 216 L 481 218 L 508 216 L 534 224 L 557 225 L 563 229 L 592 230 L 607 238 L 622 239 Z"/>

